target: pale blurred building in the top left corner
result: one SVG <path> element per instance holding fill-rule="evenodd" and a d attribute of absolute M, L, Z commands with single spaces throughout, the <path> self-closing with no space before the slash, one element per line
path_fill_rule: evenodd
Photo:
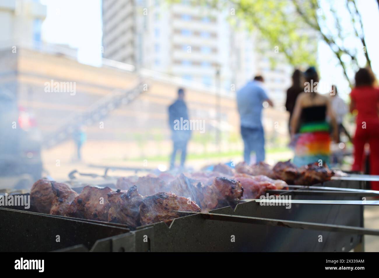
<path fill-rule="evenodd" d="M 0 45 L 33 45 L 41 42 L 46 6 L 33 0 L 0 1 Z"/>

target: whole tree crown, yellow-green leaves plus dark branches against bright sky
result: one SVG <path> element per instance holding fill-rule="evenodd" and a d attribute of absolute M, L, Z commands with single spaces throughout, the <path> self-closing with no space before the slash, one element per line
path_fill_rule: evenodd
<path fill-rule="evenodd" d="M 176 0 L 168 0 L 177 2 Z M 295 67 L 315 65 L 319 38 L 335 54 L 346 80 L 371 67 L 356 0 L 193 0 L 192 5 L 228 11 L 229 20 L 258 37 L 261 53 L 283 53 Z M 274 52 L 276 50 L 276 52 Z M 277 55 L 268 55 L 274 67 Z"/>

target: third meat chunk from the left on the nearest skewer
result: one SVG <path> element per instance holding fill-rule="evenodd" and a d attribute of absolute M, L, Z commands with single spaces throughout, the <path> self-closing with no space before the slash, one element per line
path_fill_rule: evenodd
<path fill-rule="evenodd" d="M 83 219 L 108 221 L 108 193 L 109 187 L 98 188 L 85 186 L 79 196 L 71 203 L 68 216 Z"/>

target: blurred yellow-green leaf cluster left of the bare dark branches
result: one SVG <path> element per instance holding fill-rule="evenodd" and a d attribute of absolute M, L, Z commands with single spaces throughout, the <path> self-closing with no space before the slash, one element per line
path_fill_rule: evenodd
<path fill-rule="evenodd" d="M 277 0 L 231 1 L 236 6 L 236 16 L 243 19 L 250 31 L 258 31 L 258 50 L 276 61 L 283 53 L 294 66 L 315 65 L 317 40 L 305 32 L 305 24 L 290 16 L 288 2 Z M 263 43 L 262 43 L 263 42 Z M 269 51 L 267 51 L 269 49 Z"/>

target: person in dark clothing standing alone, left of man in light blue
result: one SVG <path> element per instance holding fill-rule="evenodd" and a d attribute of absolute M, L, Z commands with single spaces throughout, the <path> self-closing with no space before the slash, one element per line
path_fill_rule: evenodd
<path fill-rule="evenodd" d="M 184 89 L 178 90 L 178 99 L 168 107 L 169 126 L 172 132 L 173 151 L 170 160 L 170 169 L 175 167 L 175 157 L 181 151 L 180 167 L 184 167 L 187 154 L 187 143 L 191 137 L 191 130 L 183 129 L 183 123 L 189 121 L 187 106 L 184 102 Z"/>

